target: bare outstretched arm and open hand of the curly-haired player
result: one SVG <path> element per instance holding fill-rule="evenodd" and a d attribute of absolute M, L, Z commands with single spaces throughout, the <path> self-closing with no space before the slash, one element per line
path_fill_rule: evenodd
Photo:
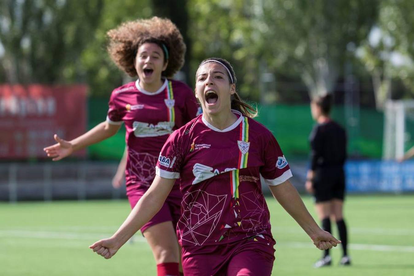
<path fill-rule="evenodd" d="M 101 122 L 99 125 L 96 125 L 94 128 L 72 141 L 63 140 L 55 134 L 54 138 L 58 143 L 44 148 L 43 151 L 46 151 L 47 156 L 53 158 L 53 161 L 58 161 L 69 156 L 74 151 L 83 149 L 84 147 L 101 142 L 102 140 L 113 136 L 118 132 L 119 128 L 120 125 L 112 125 L 106 121 Z"/>

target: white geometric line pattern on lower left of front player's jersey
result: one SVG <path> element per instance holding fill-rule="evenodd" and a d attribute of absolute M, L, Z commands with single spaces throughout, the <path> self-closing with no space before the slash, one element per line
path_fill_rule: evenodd
<path fill-rule="evenodd" d="M 203 245 L 219 223 L 226 198 L 227 194 L 215 195 L 202 190 L 186 193 L 183 202 L 188 204 L 178 221 L 181 239 L 193 245 Z"/>

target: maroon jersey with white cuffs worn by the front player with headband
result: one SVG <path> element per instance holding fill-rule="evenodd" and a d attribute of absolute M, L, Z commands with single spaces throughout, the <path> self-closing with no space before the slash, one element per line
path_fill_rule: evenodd
<path fill-rule="evenodd" d="M 272 236 L 260 178 L 278 185 L 292 176 L 276 139 L 233 110 L 237 121 L 219 130 L 202 115 L 176 130 L 161 150 L 156 174 L 180 178 L 181 245 L 217 245 Z"/>

